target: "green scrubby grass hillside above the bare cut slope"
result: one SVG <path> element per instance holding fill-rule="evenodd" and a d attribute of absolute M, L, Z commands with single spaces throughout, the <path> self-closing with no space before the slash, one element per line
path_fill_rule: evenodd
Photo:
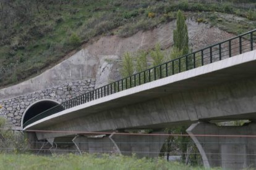
<path fill-rule="evenodd" d="M 187 17 L 194 16 L 198 22 L 210 23 L 234 34 L 256 27 L 255 2 L 240 5 L 210 2 L 14 1 L 11 5 L 1 2 L 0 87 L 41 73 L 95 36 L 127 37 L 139 30 L 149 30 L 176 18 L 178 9 L 184 10 Z M 227 19 L 222 14 L 243 19 Z"/>

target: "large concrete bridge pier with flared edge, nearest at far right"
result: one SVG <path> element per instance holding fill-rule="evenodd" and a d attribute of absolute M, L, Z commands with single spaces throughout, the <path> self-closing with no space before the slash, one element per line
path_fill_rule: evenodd
<path fill-rule="evenodd" d="M 243 169 L 256 166 L 256 138 L 250 137 L 256 135 L 255 129 L 256 123 L 244 126 L 195 123 L 187 133 L 197 145 L 205 167 Z"/>

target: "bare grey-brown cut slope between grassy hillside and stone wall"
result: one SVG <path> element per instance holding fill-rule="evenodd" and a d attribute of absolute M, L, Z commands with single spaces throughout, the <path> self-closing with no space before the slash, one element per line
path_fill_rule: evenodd
<path fill-rule="evenodd" d="M 148 50 L 153 48 L 156 43 L 160 43 L 163 49 L 169 49 L 173 45 L 175 26 L 176 21 L 173 20 L 161 24 L 153 30 L 139 31 L 127 38 L 120 38 L 117 35 L 102 36 L 41 75 L 2 89 L 0 91 L 1 98 L 9 99 L 78 79 L 95 79 L 95 87 L 108 84 L 109 81 L 120 78 L 118 69 L 124 52 L 135 52 L 139 49 Z M 193 18 L 187 18 L 187 26 L 189 42 L 194 50 L 234 36 L 234 34 L 219 28 L 211 27 L 209 24 L 198 23 Z M 208 36 L 202 36 L 202 34 Z"/>

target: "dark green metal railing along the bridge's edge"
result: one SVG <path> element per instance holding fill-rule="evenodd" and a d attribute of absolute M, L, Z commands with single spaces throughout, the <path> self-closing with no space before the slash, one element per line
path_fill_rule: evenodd
<path fill-rule="evenodd" d="M 183 55 L 174 60 L 170 60 L 156 67 L 148 68 L 147 70 L 135 73 L 127 78 L 119 79 L 106 86 L 99 87 L 93 91 L 79 95 L 73 99 L 62 102 L 42 113 L 28 119 L 23 124 L 26 127 L 28 124 L 34 123 L 46 116 L 53 115 L 59 111 L 90 102 L 92 100 L 105 97 L 116 92 L 124 91 L 132 87 L 140 86 L 141 84 L 149 83 L 157 79 L 166 78 L 168 76 L 201 67 L 209 63 L 217 62 L 223 59 L 228 59 L 244 52 L 253 51 L 255 49 L 256 30 L 249 31 L 226 41 L 213 44 L 198 51 Z"/>

